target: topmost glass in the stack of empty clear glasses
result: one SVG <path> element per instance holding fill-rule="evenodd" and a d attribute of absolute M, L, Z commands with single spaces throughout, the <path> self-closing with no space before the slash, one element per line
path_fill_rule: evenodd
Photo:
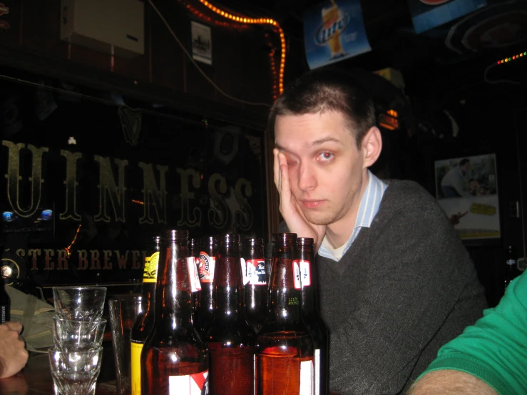
<path fill-rule="evenodd" d="M 64 319 L 99 319 L 105 299 L 106 287 L 53 287 L 55 312 Z"/>

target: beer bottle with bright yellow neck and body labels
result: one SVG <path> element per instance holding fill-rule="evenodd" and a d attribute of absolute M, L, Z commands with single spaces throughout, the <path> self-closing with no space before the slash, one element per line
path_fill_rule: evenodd
<path fill-rule="evenodd" d="M 146 337 L 153 327 L 155 315 L 155 282 L 158 277 L 160 236 L 153 237 L 143 267 L 143 292 L 141 312 L 135 318 L 130 333 L 132 395 L 141 393 L 141 351 Z"/>

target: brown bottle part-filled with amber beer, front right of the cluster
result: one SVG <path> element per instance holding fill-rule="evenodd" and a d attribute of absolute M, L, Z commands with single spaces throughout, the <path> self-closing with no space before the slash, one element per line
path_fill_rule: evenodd
<path fill-rule="evenodd" d="M 257 395 L 311 395 L 313 341 L 302 320 L 297 235 L 273 237 L 269 314 L 256 340 Z"/>

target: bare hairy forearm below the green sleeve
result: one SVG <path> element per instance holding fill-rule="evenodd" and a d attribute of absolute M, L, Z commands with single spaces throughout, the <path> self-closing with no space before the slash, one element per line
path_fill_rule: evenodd
<path fill-rule="evenodd" d="M 417 380 L 406 395 L 497 395 L 485 381 L 459 370 L 435 370 Z"/>

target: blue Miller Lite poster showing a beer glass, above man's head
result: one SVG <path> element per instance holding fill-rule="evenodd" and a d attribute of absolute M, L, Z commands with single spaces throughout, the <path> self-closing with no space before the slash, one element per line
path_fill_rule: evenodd
<path fill-rule="evenodd" d="M 311 69 L 372 51 L 359 0 L 328 0 L 307 9 L 304 43 Z"/>

